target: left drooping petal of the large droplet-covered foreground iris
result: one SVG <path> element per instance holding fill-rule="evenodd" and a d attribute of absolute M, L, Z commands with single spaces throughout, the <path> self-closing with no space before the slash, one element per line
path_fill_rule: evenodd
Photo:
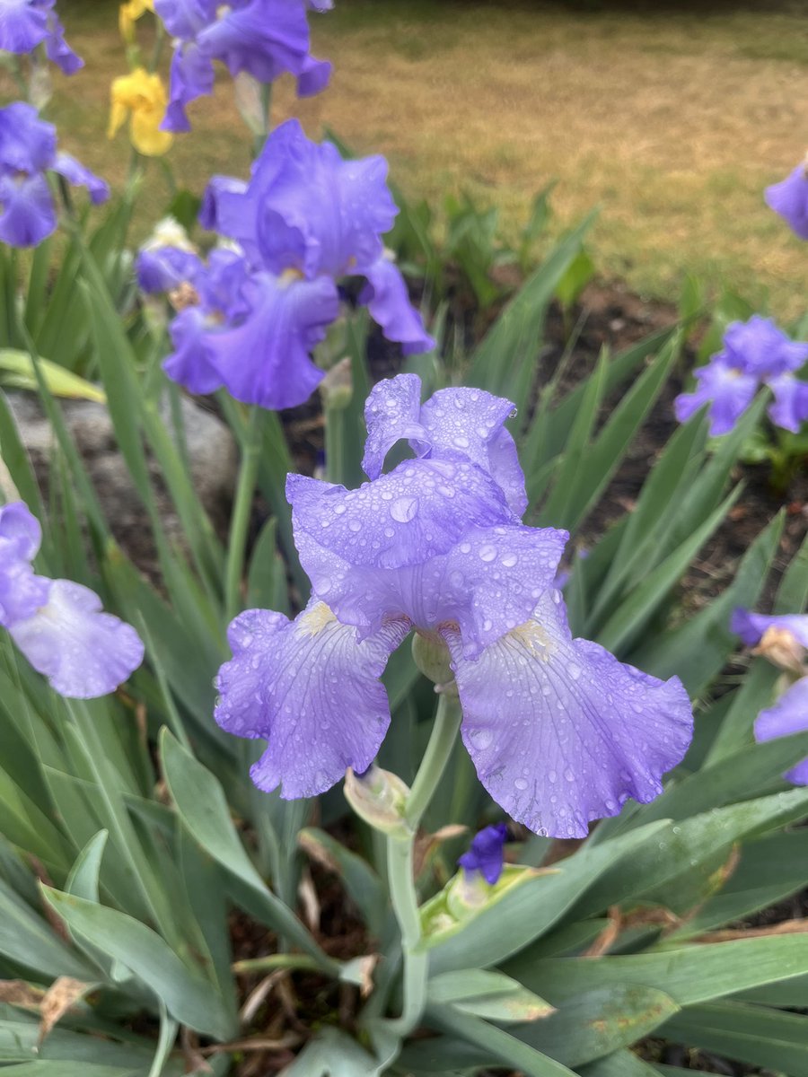
<path fill-rule="evenodd" d="M 287 799 L 331 788 L 348 767 L 373 763 L 390 724 L 379 682 L 407 634 L 400 621 L 358 642 L 323 603 L 289 621 L 249 610 L 231 625 L 234 657 L 219 672 L 215 719 L 238 737 L 265 738 L 252 780 Z"/>

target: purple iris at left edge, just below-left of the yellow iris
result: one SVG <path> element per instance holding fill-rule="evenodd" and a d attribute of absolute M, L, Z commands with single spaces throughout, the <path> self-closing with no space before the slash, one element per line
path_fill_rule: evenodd
<path fill-rule="evenodd" d="M 40 120 L 25 101 L 0 109 L 0 240 L 36 247 L 56 228 L 57 216 L 47 171 L 84 186 L 97 204 L 110 188 L 75 157 L 56 151 L 56 128 Z"/>

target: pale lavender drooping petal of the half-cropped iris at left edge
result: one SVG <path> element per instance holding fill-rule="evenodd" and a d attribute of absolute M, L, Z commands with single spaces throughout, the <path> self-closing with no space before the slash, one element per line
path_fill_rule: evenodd
<path fill-rule="evenodd" d="M 143 660 L 135 629 L 102 613 L 94 591 L 68 579 L 54 579 L 47 603 L 9 631 L 54 690 L 74 699 L 114 691 Z"/>

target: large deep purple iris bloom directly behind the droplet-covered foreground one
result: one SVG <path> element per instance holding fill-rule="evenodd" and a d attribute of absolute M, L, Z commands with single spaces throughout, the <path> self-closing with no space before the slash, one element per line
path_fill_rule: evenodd
<path fill-rule="evenodd" d="M 405 352 L 434 347 L 385 253 L 396 213 L 384 157 L 343 160 L 297 121 L 276 128 L 249 183 L 208 185 L 200 220 L 237 244 L 245 276 L 224 303 L 210 302 L 204 272 L 195 278 L 200 303 L 171 324 L 166 373 L 192 392 L 223 386 L 245 404 L 302 404 L 323 378 L 310 353 L 338 317 L 346 276 L 364 277 L 360 300 L 389 339 Z"/>

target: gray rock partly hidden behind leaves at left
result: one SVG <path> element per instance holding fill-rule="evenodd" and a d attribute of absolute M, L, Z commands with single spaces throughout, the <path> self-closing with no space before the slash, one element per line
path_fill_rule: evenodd
<path fill-rule="evenodd" d="M 9 393 L 9 402 L 40 486 L 46 489 L 52 462 L 58 451 L 51 424 L 34 394 Z M 113 534 L 141 569 L 150 574 L 155 572 L 156 558 L 145 509 L 119 451 L 107 408 L 89 401 L 61 401 L 60 404 Z M 159 411 L 178 444 L 166 397 L 161 402 Z M 182 398 L 182 422 L 196 492 L 213 526 L 221 530 L 226 526 L 236 482 L 238 451 L 235 440 L 225 423 L 186 397 Z M 180 521 L 157 461 L 150 458 L 149 467 L 166 532 L 172 541 L 183 545 Z"/>

